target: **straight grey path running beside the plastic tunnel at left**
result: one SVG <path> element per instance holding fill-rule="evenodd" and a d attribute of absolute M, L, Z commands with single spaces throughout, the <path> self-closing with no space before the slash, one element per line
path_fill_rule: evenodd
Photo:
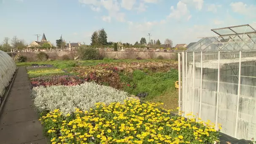
<path fill-rule="evenodd" d="M 46 144 L 25 67 L 18 69 L 0 115 L 0 144 Z"/>

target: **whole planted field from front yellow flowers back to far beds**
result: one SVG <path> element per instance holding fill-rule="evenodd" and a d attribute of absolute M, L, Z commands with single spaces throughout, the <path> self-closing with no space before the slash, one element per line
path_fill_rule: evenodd
<path fill-rule="evenodd" d="M 177 112 L 177 61 L 47 61 L 26 66 L 52 144 L 202 144 L 210 122 Z M 174 110 L 172 110 L 174 109 Z M 188 114 L 190 115 L 190 114 Z"/>

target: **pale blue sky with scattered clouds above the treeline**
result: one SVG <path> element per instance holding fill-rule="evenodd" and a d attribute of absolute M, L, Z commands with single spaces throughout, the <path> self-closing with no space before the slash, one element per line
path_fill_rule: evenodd
<path fill-rule="evenodd" d="M 255 13 L 256 0 L 0 0 L 0 42 L 16 35 L 29 44 L 44 32 L 54 45 L 61 34 L 90 44 L 93 31 L 104 28 L 113 42 L 148 41 L 150 32 L 161 43 L 189 44 L 213 36 L 213 28 L 256 28 Z"/>

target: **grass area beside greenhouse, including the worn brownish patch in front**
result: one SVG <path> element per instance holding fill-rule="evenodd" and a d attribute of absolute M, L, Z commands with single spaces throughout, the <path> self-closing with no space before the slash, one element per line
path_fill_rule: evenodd
<path fill-rule="evenodd" d="M 178 70 L 171 69 L 169 72 L 157 73 L 135 70 L 133 74 L 120 73 L 119 75 L 120 80 L 126 84 L 124 91 L 133 95 L 148 93 L 142 101 L 163 102 L 162 108 L 177 111 L 179 92 L 174 87 L 174 83 L 178 80 Z"/>

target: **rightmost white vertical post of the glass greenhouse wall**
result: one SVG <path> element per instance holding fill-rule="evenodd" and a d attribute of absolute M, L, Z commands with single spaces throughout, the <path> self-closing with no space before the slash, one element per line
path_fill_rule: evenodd
<path fill-rule="evenodd" d="M 235 120 L 235 138 L 237 136 L 239 98 L 240 98 L 240 87 L 241 87 L 241 54 L 242 54 L 242 51 L 239 52 L 239 73 L 238 73 L 238 88 L 237 88 L 237 113 L 236 113 L 236 120 Z"/>

